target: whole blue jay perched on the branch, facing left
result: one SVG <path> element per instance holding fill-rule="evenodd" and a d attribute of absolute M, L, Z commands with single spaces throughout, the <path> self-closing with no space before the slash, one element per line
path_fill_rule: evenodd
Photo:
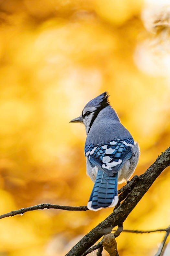
<path fill-rule="evenodd" d="M 82 114 L 70 122 L 85 125 L 86 173 L 94 182 L 87 208 L 98 211 L 117 205 L 118 183 L 129 181 L 140 155 L 140 148 L 121 124 L 111 107 L 108 92 L 90 100 Z"/>

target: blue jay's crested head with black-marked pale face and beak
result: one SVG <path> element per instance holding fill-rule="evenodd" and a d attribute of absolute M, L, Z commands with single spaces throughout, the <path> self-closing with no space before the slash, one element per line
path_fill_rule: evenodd
<path fill-rule="evenodd" d="M 88 134 L 94 120 L 98 113 L 109 106 L 108 92 L 104 92 L 96 98 L 90 100 L 84 107 L 82 114 L 79 117 L 74 118 L 70 122 L 83 123 L 85 125 L 86 133 Z"/>

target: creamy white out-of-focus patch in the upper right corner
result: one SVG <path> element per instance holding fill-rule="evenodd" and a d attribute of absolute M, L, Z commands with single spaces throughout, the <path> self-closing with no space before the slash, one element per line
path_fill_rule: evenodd
<path fill-rule="evenodd" d="M 150 34 L 137 45 L 134 61 L 149 75 L 170 77 L 170 2 L 146 1 L 146 4 L 142 21 Z"/>

